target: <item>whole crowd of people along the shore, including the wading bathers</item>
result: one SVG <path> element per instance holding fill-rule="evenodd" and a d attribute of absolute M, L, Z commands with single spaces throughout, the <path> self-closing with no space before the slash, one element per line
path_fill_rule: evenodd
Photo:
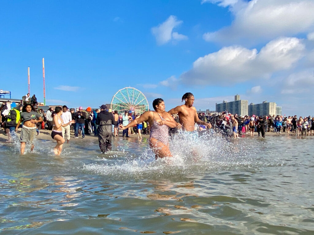
<path fill-rule="evenodd" d="M 265 137 L 266 132 L 273 131 L 280 134 L 281 130 L 287 133 L 314 132 L 314 117 L 288 116 L 243 116 L 231 114 L 228 111 L 205 115 L 197 113 L 193 107 L 194 96 L 192 93 L 185 93 L 182 97 L 183 105 L 165 111 L 165 103 L 158 98 L 153 101 L 154 111 L 135 113 L 132 110 L 118 113 L 112 111 L 106 105 L 101 105 L 99 109 L 92 110 L 87 107 L 68 108 L 66 105 L 49 108 L 46 112 L 38 109 L 35 95 L 30 98 L 27 94 L 23 97 L 21 104 L 3 102 L 0 111 L 2 116 L 1 126 L 8 135 L 8 142 L 21 125 L 20 143 L 21 154 L 24 154 L 25 144 L 31 144 L 39 135 L 40 129 L 51 130 L 51 138 L 56 140 L 54 153 L 60 155 L 62 146 L 70 140 L 70 131 L 74 131 L 74 138 L 85 135 L 98 136 L 99 147 L 102 153 L 111 150 L 111 139 L 122 134 L 122 137 L 130 137 L 137 134 L 142 138 L 142 134 L 149 134 L 149 146 L 153 150 L 156 158 L 171 156 L 169 150 L 169 138 L 181 131 L 193 138 L 198 138 L 201 131 L 210 129 L 211 132 L 221 133 L 226 138 L 238 138 L 240 135 L 254 135 Z M 122 133 L 120 133 L 122 130 Z"/>

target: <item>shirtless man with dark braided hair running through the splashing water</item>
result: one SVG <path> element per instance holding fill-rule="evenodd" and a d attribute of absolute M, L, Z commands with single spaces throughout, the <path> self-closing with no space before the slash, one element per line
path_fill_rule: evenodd
<path fill-rule="evenodd" d="M 187 92 L 182 96 L 183 105 L 177 106 L 168 112 L 172 115 L 178 113 L 180 123 L 176 123 L 176 128 L 182 128 L 185 131 L 194 131 L 195 123 L 204 125 L 208 128 L 212 128 L 210 123 L 205 123 L 198 118 L 196 108 L 193 107 L 194 95 L 191 92 Z"/>

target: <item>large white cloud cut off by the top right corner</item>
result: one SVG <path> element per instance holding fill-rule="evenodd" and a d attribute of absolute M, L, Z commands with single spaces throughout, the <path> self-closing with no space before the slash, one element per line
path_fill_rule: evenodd
<path fill-rule="evenodd" d="M 234 15 L 230 26 L 203 35 L 206 41 L 261 41 L 279 36 L 294 36 L 314 30 L 312 0 L 208 0 L 229 7 Z"/>

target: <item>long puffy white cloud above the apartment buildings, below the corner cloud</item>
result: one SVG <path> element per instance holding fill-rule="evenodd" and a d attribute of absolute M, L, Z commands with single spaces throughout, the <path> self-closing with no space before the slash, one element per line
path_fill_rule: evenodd
<path fill-rule="evenodd" d="M 265 78 L 276 71 L 290 69 L 303 56 L 304 49 L 297 38 L 275 39 L 259 53 L 257 49 L 241 46 L 223 47 L 198 58 L 181 79 L 186 84 L 232 85 L 255 77 Z"/>

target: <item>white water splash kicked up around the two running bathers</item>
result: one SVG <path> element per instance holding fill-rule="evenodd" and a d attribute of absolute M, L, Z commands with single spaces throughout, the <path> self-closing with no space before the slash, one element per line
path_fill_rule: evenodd
<path fill-rule="evenodd" d="M 84 164 L 83 170 L 114 179 L 151 179 L 189 175 L 204 171 L 254 169 L 271 164 L 260 159 L 259 148 L 242 148 L 248 144 L 230 141 L 219 133 L 202 132 L 192 136 L 182 132 L 170 141 L 172 158 L 155 160 L 148 146 L 142 154 L 129 156 L 128 152 L 99 156 L 97 162 Z M 241 139 L 241 142 L 252 141 Z M 263 143 L 255 143 L 255 146 Z"/>

